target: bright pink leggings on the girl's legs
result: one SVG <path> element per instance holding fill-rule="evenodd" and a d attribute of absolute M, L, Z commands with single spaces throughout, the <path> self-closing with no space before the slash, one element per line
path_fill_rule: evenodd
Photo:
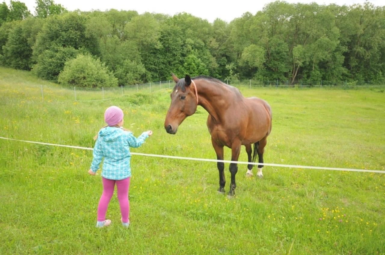
<path fill-rule="evenodd" d="M 122 222 L 129 221 L 130 202 L 128 200 L 128 190 L 130 188 L 130 177 L 123 180 L 110 180 L 103 178 L 103 193 L 99 200 L 97 207 L 97 220 L 104 221 L 107 212 L 108 204 L 114 194 L 114 188 L 118 190 L 119 206 L 121 208 Z"/>

